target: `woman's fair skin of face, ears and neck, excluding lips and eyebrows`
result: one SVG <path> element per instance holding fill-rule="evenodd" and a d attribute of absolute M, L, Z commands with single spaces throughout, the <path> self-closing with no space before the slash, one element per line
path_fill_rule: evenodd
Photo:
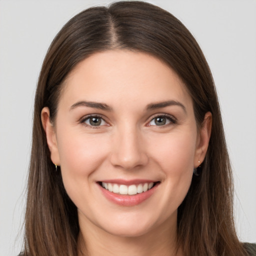
<path fill-rule="evenodd" d="M 71 107 L 82 100 L 107 104 L 111 111 Z M 183 107 L 146 109 L 169 100 Z M 101 124 L 89 125 L 89 114 L 101 116 Z M 156 125 L 154 118 L 163 114 L 174 122 L 166 118 Z M 84 240 L 89 255 L 173 254 L 177 208 L 193 168 L 204 159 L 211 130 L 209 112 L 197 130 L 192 99 L 176 73 L 146 53 L 94 53 L 69 73 L 54 124 L 47 107 L 41 119 L 51 160 L 60 165 L 64 187 L 77 206 L 78 254 Z M 160 183 L 145 201 L 122 206 L 106 199 L 96 183 L 116 178 Z"/>

